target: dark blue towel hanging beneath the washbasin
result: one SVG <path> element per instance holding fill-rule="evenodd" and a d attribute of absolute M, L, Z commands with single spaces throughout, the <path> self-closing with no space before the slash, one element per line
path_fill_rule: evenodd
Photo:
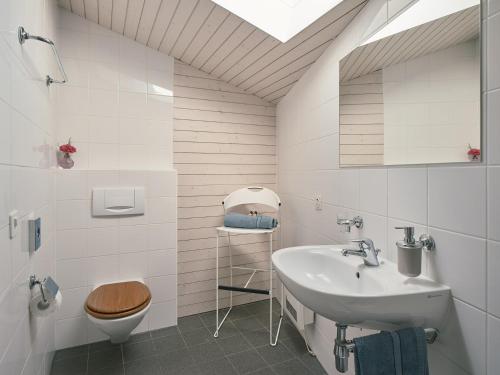
<path fill-rule="evenodd" d="M 405 328 L 359 337 L 356 375 L 428 375 L 427 343 L 422 328 Z"/>

